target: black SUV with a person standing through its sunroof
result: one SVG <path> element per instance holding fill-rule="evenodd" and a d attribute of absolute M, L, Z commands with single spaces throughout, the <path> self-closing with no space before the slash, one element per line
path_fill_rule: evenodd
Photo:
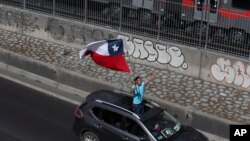
<path fill-rule="evenodd" d="M 190 126 L 150 100 L 144 112 L 132 112 L 132 96 L 99 90 L 89 94 L 74 111 L 74 132 L 80 141 L 208 141 Z"/>

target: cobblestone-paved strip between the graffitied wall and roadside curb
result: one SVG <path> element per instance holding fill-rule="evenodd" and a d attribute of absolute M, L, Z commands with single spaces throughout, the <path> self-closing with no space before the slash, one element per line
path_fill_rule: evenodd
<path fill-rule="evenodd" d="M 0 47 L 123 87 L 128 88 L 131 84 L 131 77 L 127 73 L 103 69 L 90 58 L 79 60 L 79 50 L 75 48 L 1 29 Z M 129 66 L 136 72 L 132 78 L 137 75 L 145 77 L 151 70 L 156 71 L 154 79 L 146 87 L 149 96 L 232 121 L 250 123 L 249 92 L 142 64 L 129 63 Z"/>

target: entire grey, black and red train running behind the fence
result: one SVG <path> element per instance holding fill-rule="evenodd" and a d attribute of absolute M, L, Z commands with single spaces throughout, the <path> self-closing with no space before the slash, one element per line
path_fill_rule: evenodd
<path fill-rule="evenodd" d="M 22 5 L 22 1 L 1 0 L 1 3 Z M 117 19 L 122 13 L 125 20 L 134 19 L 141 26 L 160 24 L 237 44 L 249 42 L 250 0 L 26 0 L 25 4 L 26 8 L 36 6 L 36 9 L 53 11 L 54 2 L 55 7 L 64 5 L 78 9 L 78 13 L 84 12 L 81 10 L 84 8 L 95 9 Z M 63 11 L 63 8 L 57 9 Z"/>

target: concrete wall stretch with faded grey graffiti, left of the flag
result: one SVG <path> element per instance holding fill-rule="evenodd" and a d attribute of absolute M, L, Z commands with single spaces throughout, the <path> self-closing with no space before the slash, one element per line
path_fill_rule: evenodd
<path fill-rule="evenodd" d="M 3 5 L 0 5 L 0 28 L 76 48 L 117 37 L 116 31 Z"/>

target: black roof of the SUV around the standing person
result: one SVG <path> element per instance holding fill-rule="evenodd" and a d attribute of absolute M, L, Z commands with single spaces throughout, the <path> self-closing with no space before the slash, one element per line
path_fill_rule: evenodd
<path fill-rule="evenodd" d="M 102 101 L 115 104 L 127 110 L 131 110 L 132 98 L 133 98 L 132 95 L 122 93 L 122 92 L 114 92 L 110 90 L 98 90 L 89 94 L 86 97 L 86 101 L 87 103 L 89 103 L 98 99 L 98 100 L 102 100 Z M 162 108 L 152 105 L 152 108 L 150 110 L 145 111 L 143 114 L 139 115 L 140 120 L 146 121 L 152 118 L 153 116 L 158 115 L 161 111 L 163 111 Z"/>

